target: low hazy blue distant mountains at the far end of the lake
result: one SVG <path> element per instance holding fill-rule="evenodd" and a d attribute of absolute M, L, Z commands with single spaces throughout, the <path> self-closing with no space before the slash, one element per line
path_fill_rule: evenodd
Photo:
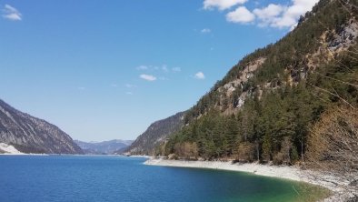
<path fill-rule="evenodd" d="M 84 150 L 85 154 L 91 155 L 111 155 L 115 151 L 124 150 L 130 146 L 133 140 L 114 139 L 104 142 L 83 142 L 75 140 L 75 143 Z"/>

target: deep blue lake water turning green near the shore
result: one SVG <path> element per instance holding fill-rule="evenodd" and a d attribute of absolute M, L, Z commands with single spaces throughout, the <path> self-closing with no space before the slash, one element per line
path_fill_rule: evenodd
<path fill-rule="evenodd" d="M 211 169 L 151 167 L 143 165 L 144 161 L 134 157 L 0 156 L 0 201 L 301 201 L 310 198 L 303 197 L 301 192 L 306 187 L 292 181 Z"/>

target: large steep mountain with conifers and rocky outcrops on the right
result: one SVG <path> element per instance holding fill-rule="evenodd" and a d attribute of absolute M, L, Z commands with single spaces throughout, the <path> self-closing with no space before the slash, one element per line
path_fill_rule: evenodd
<path fill-rule="evenodd" d="M 185 126 L 156 155 L 303 161 L 309 148 L 323 144 L 310 140 L 322 116 L 357 112 L 357 16 L 356 0 L 321 0 L 292 32 L 235 65 L 185 113 Z M 347 119 L 336 124 L 356 131 L 339 122 Z"/>

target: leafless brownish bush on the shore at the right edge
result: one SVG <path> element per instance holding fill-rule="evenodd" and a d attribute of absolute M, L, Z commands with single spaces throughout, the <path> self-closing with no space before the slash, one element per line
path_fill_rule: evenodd
<path fill-rule="evenodd" d="M 358 110 L 335 106 L 323 113 L 311 129 L 306 157 L 306 166 L 350 182 L 357 196 Z"/>

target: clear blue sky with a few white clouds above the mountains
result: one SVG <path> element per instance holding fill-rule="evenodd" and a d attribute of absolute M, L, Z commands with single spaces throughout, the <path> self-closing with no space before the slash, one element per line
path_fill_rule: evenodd
<path fill-rule="evenodd" d="M 134 139 L 314 2 L 0 0 L 0 98 L 75 139 Z"/>

